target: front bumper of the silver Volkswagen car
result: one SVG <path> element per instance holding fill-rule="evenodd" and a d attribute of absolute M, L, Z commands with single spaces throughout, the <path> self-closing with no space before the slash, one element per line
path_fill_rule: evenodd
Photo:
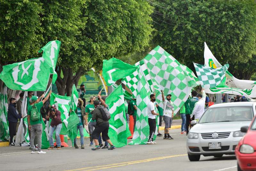
<path fill-rule="evenodd" d="M 190 155 L 203 154 L 204 156 L 212 156 L 218 154 L 235 154 L 235 148 L 242 137 L 233 137 L 232 134 L 228 138 L 198 139 L 187 138 L 187 151 Z M 221 143 L 221 149 L 209 149 L 209 143 Z M 198 147 L 198 148 L 197 148 Z"/>

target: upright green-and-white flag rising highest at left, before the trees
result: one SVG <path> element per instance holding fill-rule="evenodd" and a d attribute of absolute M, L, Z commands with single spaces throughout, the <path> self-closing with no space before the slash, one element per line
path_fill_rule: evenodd
<path fill-rule="evenodd" d="M 41 48 L 38 53 L 43 51 L 42 57 L 44 58 L 45 62 L 48 63 L 51 67 L 51 74 L 52 76 L 52 84 L 55 83 L 57 79 L 57 73 L 55 72 L 55 67 L 57 64 L 59 52 L 60 52 L 60 41 L 49 41 L 43 48 Z"/>

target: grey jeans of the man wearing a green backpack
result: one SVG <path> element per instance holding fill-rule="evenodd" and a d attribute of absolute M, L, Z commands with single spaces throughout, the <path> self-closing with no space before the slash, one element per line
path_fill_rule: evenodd
<path fill-rule="evenodd" d="M 31 125 L 30 132 L 31 132 L 30 147 L 31 147 L 32 151 L 35 151 L 35 145 L 34 145 L 35 136 L 37 137 L 38 151 L 41 151 L 41 146 L 42 146 L 42 123 Z"/>

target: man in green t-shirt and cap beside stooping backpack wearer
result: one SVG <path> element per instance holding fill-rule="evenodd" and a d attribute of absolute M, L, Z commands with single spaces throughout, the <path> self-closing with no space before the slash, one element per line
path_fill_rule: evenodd
<path fill-rule="evenodd" d="M 96 120 L 92 120 L 92 111 L 95 108 L 93 102 L 95 100 L 96 100 L 96 98 L 94 96 L 91 96 L 89 104 L 85 106 L 85 114 L 86 114 L 86 116 L 88 116 L 88 122 L 89 122 L 88 129 L 89 129 L 90 141 L 91 141 L 90 146 L 93 145 L 92 132 L 93 132 L 93 129 L 96 127 Z M 86 121 L 86 123 L 88 123 L 88 122 Z"/>

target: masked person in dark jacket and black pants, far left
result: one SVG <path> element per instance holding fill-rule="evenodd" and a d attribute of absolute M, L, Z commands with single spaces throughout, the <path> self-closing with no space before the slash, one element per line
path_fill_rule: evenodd
<path fill-rule="evenodd" d="M 9 122 L 9 134 L 10 134 L 9 146 L 15 146 L 13 141 L 13 136 L 16 135 L 16 126 L 17 126 L 18 119 L 22 117 L 22 115 L 19 115 L 16 112 L 15 107 L 16 107 L 16 99 L 11 98 L 10 104 L 8 107 L 8 116 L 7 116 L 7 120 Z"/>

